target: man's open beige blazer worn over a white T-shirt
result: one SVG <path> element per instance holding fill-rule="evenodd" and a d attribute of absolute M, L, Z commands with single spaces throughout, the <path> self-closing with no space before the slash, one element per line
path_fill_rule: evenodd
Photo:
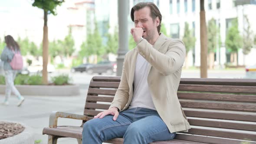
<path fill-rule="evenodd" d="M 121 82 L 110 108 L 124 111 L 129 107 L 138 53 L 149 62 L 148 86 L 158 114 L 171 133 L 187 131 L 190 125 L 177 98 L 186 49 L 181 40 L 167 38 L 164 34 L 160 34 L 154 46 L 144 39 L 127 52 Z"/>

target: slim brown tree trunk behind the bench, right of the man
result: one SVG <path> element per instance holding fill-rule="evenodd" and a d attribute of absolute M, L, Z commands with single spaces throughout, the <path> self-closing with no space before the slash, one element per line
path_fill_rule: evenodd
<path fill-rule="evenodd" d="M 200 0 L 200 76 L 207 78 L 207 31 L 206 31 L 204 0 Z"/>

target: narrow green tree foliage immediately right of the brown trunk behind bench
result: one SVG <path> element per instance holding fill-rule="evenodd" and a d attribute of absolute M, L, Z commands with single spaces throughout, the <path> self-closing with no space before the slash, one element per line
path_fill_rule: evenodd
<path fill-rule="evenodd" d="M 208 27 L 207 27 L 208 52 L 214 52 L 216 50 L 218 33 L 219 33 L 219 29 L 216 25 L 216 21 L 212 18 L 211 20 L 209 20 Z"/>

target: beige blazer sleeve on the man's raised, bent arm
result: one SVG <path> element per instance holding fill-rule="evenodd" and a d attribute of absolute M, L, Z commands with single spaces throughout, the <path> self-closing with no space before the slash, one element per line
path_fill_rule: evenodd
<path fill-rule="evenodd" d="M 163 75 L 170 75 L 180 69 L 186 56 L 184 43 L 179 39 L 170 42 L 165 54 L 154 49 L 145 39 L 135 49 Z"/>

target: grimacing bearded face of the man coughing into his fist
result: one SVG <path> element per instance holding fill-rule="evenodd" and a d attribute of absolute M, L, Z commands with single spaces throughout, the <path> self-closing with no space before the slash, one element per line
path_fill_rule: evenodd
<path fill-rule="evenodd" d="M 142 37 L 144 39 L 151 39 L 155 35 L 155 33 L 158 33 L 158 17 L 155 20 L 152 20 L 150 16 L 150 8 L 144 7 L 140 10 L 135 10 L 134 12 L 134 24 L 135 27 L 141 27 L 143 29 L 143 35 Z"/>

